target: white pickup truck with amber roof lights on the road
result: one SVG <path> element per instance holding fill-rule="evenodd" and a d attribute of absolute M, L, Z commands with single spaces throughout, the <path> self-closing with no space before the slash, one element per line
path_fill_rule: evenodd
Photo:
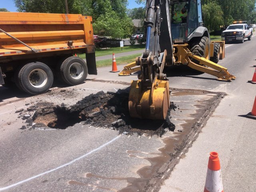
<path fill-rule="evenodd" d="M 238 41 L 243 43 L 244 38 L 248 38 L 249 41 L 252 39 L 252 28 L 244 23 L 232 24 L 221 34 L 221 40 L 225 42 Z"/>

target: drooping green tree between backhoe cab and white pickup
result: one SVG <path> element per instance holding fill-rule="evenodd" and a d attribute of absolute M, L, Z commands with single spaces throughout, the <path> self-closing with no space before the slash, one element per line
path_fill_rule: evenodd
<path fill-rule="evenodd" d="M 202 14 L 209 32 L 220 30 L 220 26 L 224 24 L 223 11 L 217 2 L 208 1 L 207 4 L 202 5 Z"/>

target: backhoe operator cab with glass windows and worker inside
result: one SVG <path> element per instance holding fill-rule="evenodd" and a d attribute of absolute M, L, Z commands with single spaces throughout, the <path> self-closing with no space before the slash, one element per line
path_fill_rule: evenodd
<path fill-rule="evenodd" d="M 203 27 L 200 0 L 170 0 L 170 12 L 174 43 L 188 42 L 194 37 L 210 37 Z"/>

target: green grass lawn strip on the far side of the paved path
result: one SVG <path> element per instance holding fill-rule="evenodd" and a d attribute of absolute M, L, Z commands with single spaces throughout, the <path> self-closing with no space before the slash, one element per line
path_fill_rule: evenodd
<path fill-rule="evenodd" d="M 113 53 L 117 54 L 117 53 L 123 53 L 123 52 L 129 52 L 129 51 L 136 51 L 136 50 L 140 50 L 140 49 L 144 49 L 145 48 L 145 44 L 137 44 L 137 45 L 126 45 L 123 48 L 121 47 L 110 47 L 108 49 L 104 48 L 96 48 L 95 49 L 95 56 L 104 56 L 104 55 L 111 55 Z M 85 58 L 85 54 L 79 54 L 80 58 Z"/>

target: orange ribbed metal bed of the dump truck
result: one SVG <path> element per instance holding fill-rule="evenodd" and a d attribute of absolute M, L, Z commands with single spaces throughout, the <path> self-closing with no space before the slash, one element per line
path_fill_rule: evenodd
<path fill-rule="evenodd" d="M 0 32 L 0 62 L 8 57 L 15 60 L 17 55 L 71 49 L 94 53 L 91 16 L 0 12 L 0 29 L 37 51 L 33 52 L 29 47 Z"/>

